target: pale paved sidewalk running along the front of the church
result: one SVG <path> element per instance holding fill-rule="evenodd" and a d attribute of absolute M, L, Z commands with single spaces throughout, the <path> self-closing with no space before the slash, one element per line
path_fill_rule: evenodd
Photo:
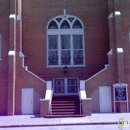
<path fill-rule="evenodd" d="M 40 118 L 34 115 L 0 116 L 0 127 L 118 124 L 121 118 L 129 121 L 130 113 L 100 113 L 74 118 Z"/>

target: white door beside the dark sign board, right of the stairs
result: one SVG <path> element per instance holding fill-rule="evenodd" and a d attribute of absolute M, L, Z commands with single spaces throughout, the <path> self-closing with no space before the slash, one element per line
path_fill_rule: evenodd
<path fill-rule="evenodd" d="M 101 86 L 99 87 L 99 104 L 101 113 L 111 113 L 111 87 Z"/>

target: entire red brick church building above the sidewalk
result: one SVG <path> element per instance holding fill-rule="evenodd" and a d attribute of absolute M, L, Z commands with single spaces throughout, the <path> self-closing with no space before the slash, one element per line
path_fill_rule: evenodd
<path fill-rule="evenodd" d="M 0 0 L 0 115 L 130 112 L 130 0 Z"/>

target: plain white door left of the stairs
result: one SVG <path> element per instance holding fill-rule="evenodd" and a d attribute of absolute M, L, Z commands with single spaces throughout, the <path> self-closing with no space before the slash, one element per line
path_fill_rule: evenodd
<path fill-rule="evenodd" d="M 22 114 L 33 114 L 33 88 L 22 89 Z"/>

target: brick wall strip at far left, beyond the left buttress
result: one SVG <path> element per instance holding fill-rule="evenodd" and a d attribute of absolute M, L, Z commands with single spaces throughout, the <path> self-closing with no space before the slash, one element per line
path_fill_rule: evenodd
<path fill-rule="evenodd" d="M 0 0 L 0 34 L 2 60 L 0 60 L 0 115 L 7 114 L 9 1 Z"/>

